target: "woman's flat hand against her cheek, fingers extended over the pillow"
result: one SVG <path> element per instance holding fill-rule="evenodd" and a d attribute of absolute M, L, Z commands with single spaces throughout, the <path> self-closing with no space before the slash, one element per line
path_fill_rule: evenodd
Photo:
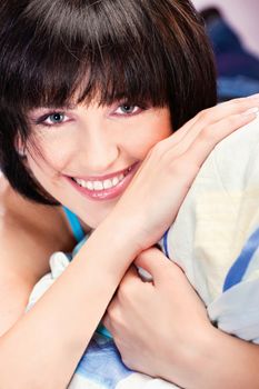
<path fill-rule="evenodd" d="M 220 140 L 255 119 L 251 109 L 258 106 L 259 97 L 253 97 L 201 111 L 151 149 L 109 216 L 123 239 L 137 248 L 136 253 L 161 238 L 208 154 Z"/>

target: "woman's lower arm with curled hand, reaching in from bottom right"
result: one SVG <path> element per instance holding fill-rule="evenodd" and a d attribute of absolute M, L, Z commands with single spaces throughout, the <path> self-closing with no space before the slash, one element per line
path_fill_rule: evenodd
<path fill-rule="evenodd" d="M 166 259 L 166 260 L 165 260 Z M 109 306 L 104 325 L 124 363 L 186 389 L 256 389 L 259 347 L 215 328 L 181 269 L 158 249 L 131 267 Z"/>

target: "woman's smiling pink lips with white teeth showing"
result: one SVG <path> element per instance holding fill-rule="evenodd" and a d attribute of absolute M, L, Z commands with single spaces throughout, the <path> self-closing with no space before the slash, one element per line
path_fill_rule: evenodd
<path fill-rule="evenodd" d="M 139 162 L 119 172 L 102 177 L 72 178 L 66 177 L 69 182 L 83 196 L 91 200 L 103 201 L 114 199 L 123 193 L 138 170 Z"/>

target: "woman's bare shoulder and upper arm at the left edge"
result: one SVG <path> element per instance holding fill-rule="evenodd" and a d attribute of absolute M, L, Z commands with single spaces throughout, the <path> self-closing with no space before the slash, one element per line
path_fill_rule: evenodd
<path fill-rule="evenodd" d="M 0 178 L 0 335 L 23 315 L 50 255 L 72 245 L 58 210 L 24 200 Z"/>

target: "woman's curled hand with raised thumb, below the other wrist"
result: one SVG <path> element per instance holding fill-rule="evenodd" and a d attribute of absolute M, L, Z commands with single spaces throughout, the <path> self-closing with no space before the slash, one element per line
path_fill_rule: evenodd
<path fill-rule="evenodd" d="M 205 306 L 182 270 L 160 250 L 146 250 L 136 265 L 153 281 L 143 282 L 132 266 L 107 310 L 104 326 L 129 368 L 186 382 L 182 376 L 191 376 L 193 366 L 188 366 L 199 360 L 212 327 Z"/>

